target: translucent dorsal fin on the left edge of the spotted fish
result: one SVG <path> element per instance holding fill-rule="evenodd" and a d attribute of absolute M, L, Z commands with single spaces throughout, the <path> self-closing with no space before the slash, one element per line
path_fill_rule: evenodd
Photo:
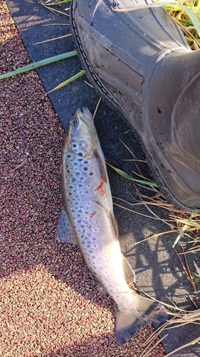
<path fill-rule="evenodd" d="M 60 218 L 57 227 L 57 239 L 59 242 L 75 244 L 77 246 L 73 227 L 64 209 L 62 209 L 60 212 Z"/>

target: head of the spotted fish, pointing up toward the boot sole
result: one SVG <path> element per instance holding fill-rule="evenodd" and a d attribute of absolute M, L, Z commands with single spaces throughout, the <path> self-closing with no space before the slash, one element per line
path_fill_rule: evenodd
<path fill-rule="evenodd" d="M 88 108 L 76 109 L 68 124 L 64 146 L 68 146 L 75 154 L 86 156 L 98 144 L 98 134 L 93 116 Z"/>

